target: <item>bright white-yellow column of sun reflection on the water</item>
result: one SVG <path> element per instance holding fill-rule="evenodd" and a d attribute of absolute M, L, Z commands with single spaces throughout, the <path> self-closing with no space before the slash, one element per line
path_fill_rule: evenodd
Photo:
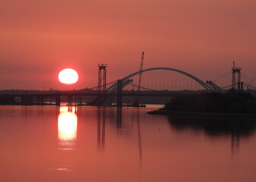
<path fill-rule="evenodd" d="M 74 150 L 76 145 L 77 116 L 67 107 L 59 109 L 58 140 L 59 149 Z"/>

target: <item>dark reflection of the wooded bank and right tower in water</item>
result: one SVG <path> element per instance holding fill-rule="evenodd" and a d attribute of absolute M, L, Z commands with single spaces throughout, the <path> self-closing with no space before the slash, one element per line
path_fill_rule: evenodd
<path fill-rule="evenodd" d="M 169 115 L 168 121 L 174 130 L 203 130 L 206 138 L 210 140 L 230 137 L 232 156 L 238 154 L 240 140 L 248 139 L 254 135 L 256 129 L 254 118 Z"/>

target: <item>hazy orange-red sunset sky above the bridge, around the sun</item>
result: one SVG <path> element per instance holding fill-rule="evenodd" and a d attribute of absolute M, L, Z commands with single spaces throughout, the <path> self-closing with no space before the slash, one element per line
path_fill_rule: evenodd
<path fill-rule="evenodd" d="M 256 77 L 254 0 L 0 0 L 0 89 L 82 89 L 144 67 L 201 80 L 231 71 Z M 71 86 L 64 68 L 78 71 Z M 226 80 L 222 85 L 231 84 Z"/>

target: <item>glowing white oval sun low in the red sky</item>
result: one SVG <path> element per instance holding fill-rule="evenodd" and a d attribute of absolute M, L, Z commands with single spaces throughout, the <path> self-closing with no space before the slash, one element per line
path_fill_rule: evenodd
<path fill-rule="evenodd" d="M 78 73 L 71 69 L 66 68 L 59 72 L 59 82 L 66 85 L 74 84 L 78 81 Z"/>

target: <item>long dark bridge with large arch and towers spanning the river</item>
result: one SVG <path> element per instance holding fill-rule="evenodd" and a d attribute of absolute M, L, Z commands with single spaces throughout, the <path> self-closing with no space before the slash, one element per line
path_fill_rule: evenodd
<path fill-rule="evenodd" d="M 45 105 L 46 101 L 50 101 L 50 104 L 58 106 L 61 103 L 61 98 L 64 98 L 62 101 L 68 102 L 68 105 L 112 105 L 112 103 L 117 103 L 117 106 L 122 106 L 123 97 L 138 98 L 139 96 L 150 96 L 171 98 L 171 96 L 175 96 L 178 93 L 191 93 L 195 91 L 226 93 L 228 89 L 242 90 L 244 85 L 241 82 L 241 74 L 240 77 L 238 74 L 238 71 L 241 71 L 241 69 L 237 67 L 232 67 L 232 86 L 224 87 L 218 86 L 211 80 L 204 82 L 192 74 L 170 67 L 152 67 L 136 71 L 122 79 L 107 83 L 106 67 L 107 65 L 104 64 L 99 66 L 98 86 L 89 89 L 41 93 L 5 93 L 0 94 L 0 98 L 7 99 L 6 102 L 9 104 L 21 105 Z M 235 79 L 234 73 L 237 74 L 237 79 Z M 137 80 L 139 80 L 139 75 L 142 75 L 144 81 L 142 85 L 138 86 Z M 238 80 L 238 82 L 235 83 L 235 80 Z M 253 81 L 250 80 L 251 83 Z M 256 89 L 256 86 L 253 86 L 251 83 L 245 83 L 245 86 Z M 138 90 L 138 87 L 141 90 Z M 87 100 L 83 104 L 82 97 L 94 97 L 94 99 L 91 99 L 91 101 Z"/>

